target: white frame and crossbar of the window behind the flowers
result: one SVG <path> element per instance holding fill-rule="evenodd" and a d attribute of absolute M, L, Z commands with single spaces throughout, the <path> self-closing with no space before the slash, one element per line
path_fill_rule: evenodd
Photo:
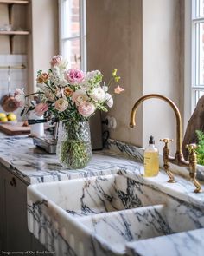
<path fill-rule="evenodd" d="M 64 0 L 58 0 L 59 4 L 59 49 L 60 54 L 63 56 L 62 48 L 62 25 L 63 25 L 63 15 L 62 15 L 62 2 Z M 79 36 L 72 36 L 70 38 L 78 38 Z M 69 39 L 69 38 L 64 38 Z M 86 0 L 80 0 L 80 69 L 86 72 Z"/>

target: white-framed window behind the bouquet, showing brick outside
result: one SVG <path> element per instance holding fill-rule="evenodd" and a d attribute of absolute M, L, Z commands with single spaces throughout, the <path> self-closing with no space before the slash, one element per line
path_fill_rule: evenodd
<path fill-rule="evenodd" d="M 86 0 L 59 0 L 60 51 L 69 68 L 86 71 Z"/>

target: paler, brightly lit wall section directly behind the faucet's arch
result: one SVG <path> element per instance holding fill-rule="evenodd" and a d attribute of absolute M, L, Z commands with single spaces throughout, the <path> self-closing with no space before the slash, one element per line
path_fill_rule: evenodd
<path fill-rule="evenodd" d="M 182 109 L 180 2 L 143 0 L 143 95 L 168 96 Z M 175 114 L 166 102 L 156 99 L 143 104 L 143 145 L 150 135 L 156 141 L 175 140 L 175 127 Z M 158 144 L 162 149 L 163 144 Z"/>

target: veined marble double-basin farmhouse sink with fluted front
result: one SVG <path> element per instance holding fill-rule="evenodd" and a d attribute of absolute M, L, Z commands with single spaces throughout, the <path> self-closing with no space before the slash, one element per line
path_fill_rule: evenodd
<path fill-rule="evenodd" d="M 28 223 L 56 255 L 124 255 L 128 242 L 204 227 L 204 216 L 118 173 L 29 186 Z"/>

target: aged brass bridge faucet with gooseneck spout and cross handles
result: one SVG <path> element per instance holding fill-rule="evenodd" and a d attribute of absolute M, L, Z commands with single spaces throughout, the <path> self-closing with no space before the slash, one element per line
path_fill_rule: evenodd
<path fill-rule="evenodd" d="M 201 184 L 196 180 L 196 165 L 197 165 L 197 160 L 196 160 L 196 154 L 195 154 L 195 144 L 189 144 L 187 145 L 188 151 L 189 151 L 189 161 L 186 161 L 183 157 L 182 154 L 182 118 L 181 114 L 179 112 L 179 109 L 175 105 L 175 102 L 172 102 L 169 98 L 163 96 L 163 95 L 157 95 L 157 94 L 150 94 L 150 95 L 144 95 L 141 97 L 134 105 L 134 107 L 131 109 L 131 121 L 130 121 L 130 127 L 134 128 L 136 125 L 135 122 L 135 115 L 137 108 L 140 103 L 142 103 L 145 100 L 148 100 L 150 98 L 158 98 L 160 100 L 163 100 L 164 102 L 168 102 L 170 107 L 173 108 L 175 112 L 175 118 L 176 118 L 176 152 L 175 152 L 175 157 L 172 157 L 169 155 L 169 142 L 173 141 L 170 139 L 163 139 L 160 141 L 163 141 L 165 143 L 164 148 L 163 148 L 163 168 L 166 171 L 166 173 L 169 176 L 169 181 L 170 183 L 175 182 L 175 177 L 174 175 L 170 172 L 169 170 L 169 163 L 174 163 L 179 166 L 183 167 L 189 167 L 189 176 L 190 179 L 193 181 L 194 186 L 196 187 L 194 190 L 194 193 L 200 193 L 202 192 L 201 190 Z"/>

